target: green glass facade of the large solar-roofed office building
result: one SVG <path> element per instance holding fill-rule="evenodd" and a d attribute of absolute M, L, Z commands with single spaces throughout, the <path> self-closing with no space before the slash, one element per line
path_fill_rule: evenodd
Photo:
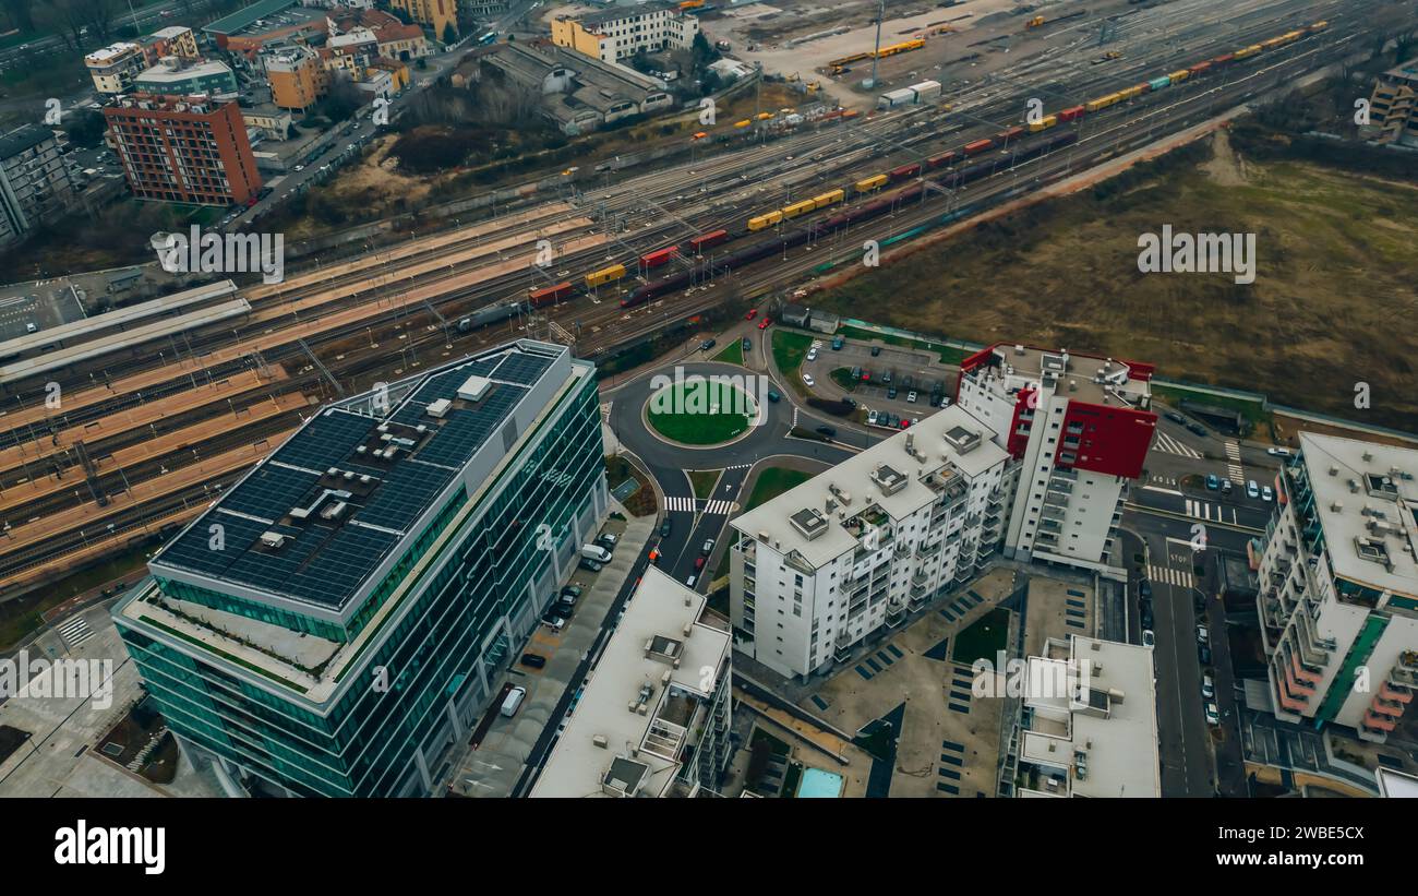
<path fill-rule="evenodd" d="M 486 703 L 510 645 L 525 639 L 556 590 L 547 533 L 553 547 L 573 546 L 557 556 L 573 557 L 570 539 L 594 522 L 604 466 L 593 376 L 563 396 L 520 451 L 476 505 L 464 496 L 448 505 L 461 513 L 445 508 L 430 526 L 457 526 L 457 536 L 396 598 L 408 605 L 379 622 L 381 631 L 367 645 L 345 648 L 363 655 L 346 665 L 328 705 L 295 690 L 272 693 L 285 689 L 258 683 L 265 679 L 255 672 L 214 665 L 214 658 L 194 659 L 183 639 L 139 628 L 119 605 L 119 631 L 169 727 L 301 795 L 427 793 L 430 780 L 437 783 L 434 763 L 461 733 L 455 719 L 465 723 Z M 434 547 L 435 534 L 415 539 L 414 557 L 400 563 L 400 581 Z M 397 584 L 380 584 L 360 610 L 360 625 Z"/>

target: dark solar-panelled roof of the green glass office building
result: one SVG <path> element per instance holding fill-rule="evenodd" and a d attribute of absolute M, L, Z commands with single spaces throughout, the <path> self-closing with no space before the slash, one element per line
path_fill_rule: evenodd
<path fill-rule="evenodd" d="M 484 445 L 512 447 L 513 414 L 563 354 L 515 343 L 323 408 L 150 569 L 186 570 L 251 600 L 343 611 L 448 503 Z M 211 547 L 214 525 L 221 550 Z"/>

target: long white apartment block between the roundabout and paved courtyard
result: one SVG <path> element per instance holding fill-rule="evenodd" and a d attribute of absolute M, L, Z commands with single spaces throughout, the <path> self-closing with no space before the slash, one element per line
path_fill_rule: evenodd
<path fill-rule="evenodd" d="M 949 407 L 735 519 L 735 646 L 807 676 L 968 581 L 1004 527 L 993 437 Z"/>

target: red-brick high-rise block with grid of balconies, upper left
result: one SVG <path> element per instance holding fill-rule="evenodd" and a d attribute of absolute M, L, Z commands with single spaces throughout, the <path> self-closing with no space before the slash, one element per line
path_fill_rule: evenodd
<path fill-rule="evenodd" d="M 235 102 L 130 94 L 104 108 L 108 143 L 139 198 L 247 204 L 261 190 Z"/>

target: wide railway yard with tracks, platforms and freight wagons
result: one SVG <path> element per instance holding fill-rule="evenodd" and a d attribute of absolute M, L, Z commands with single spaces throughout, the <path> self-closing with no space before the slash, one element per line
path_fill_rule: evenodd
<path fill-rule="evenodd" d="M 744 133 L 281 284 L 218 282 L 116 326 L 101 315 L 3 343 L 0 600 L 176 532 L 322 401 L 518 336 L 610 357 L 856 264 L 864 241 L 967 220 L 1197 128 L 1383 28 L 1341 0 L 1198 9 L 1130 16 L 1109 65 L 1088 40 L 1045 41 L 937 102 Z M 1046 125 L 1025 119 L 1029 98 Z"/>

